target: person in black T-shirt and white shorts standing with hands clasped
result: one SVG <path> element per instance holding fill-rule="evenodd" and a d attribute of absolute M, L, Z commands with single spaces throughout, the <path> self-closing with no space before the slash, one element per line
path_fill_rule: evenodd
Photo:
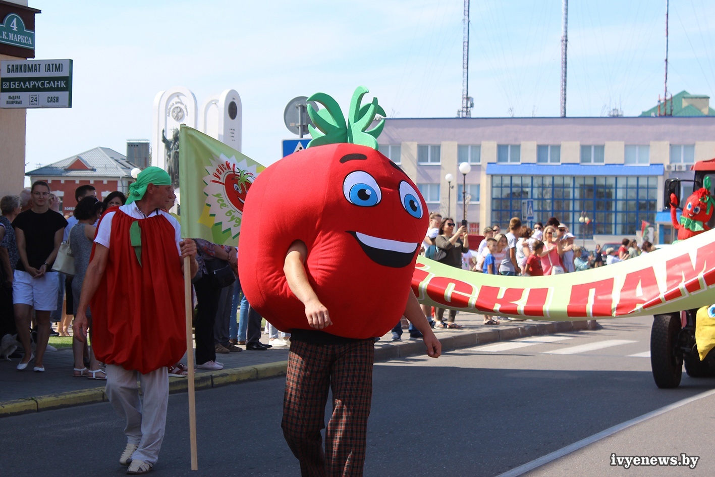
<path fill-rule="evenodd" d="M 34 370 L 44 372 L 42 358 L 49 340 L 49 315 L 57 308 L 59 282 L 52 272 L 67 221 L 49 209 L 49 185 L 36 181 L 31 188 L 32 208 L 21 212 L 12 225 L 15 229 L 20 260 L 13 275 L 12 302 L 15 309 L 17 337 L 25 350 L 17 370 L 35 360 Z M 37 349 L 32 353 L 30 325 L 32 309 L 37 322 Z M 28 353 L 29 352 L 29 353 Z"/>

